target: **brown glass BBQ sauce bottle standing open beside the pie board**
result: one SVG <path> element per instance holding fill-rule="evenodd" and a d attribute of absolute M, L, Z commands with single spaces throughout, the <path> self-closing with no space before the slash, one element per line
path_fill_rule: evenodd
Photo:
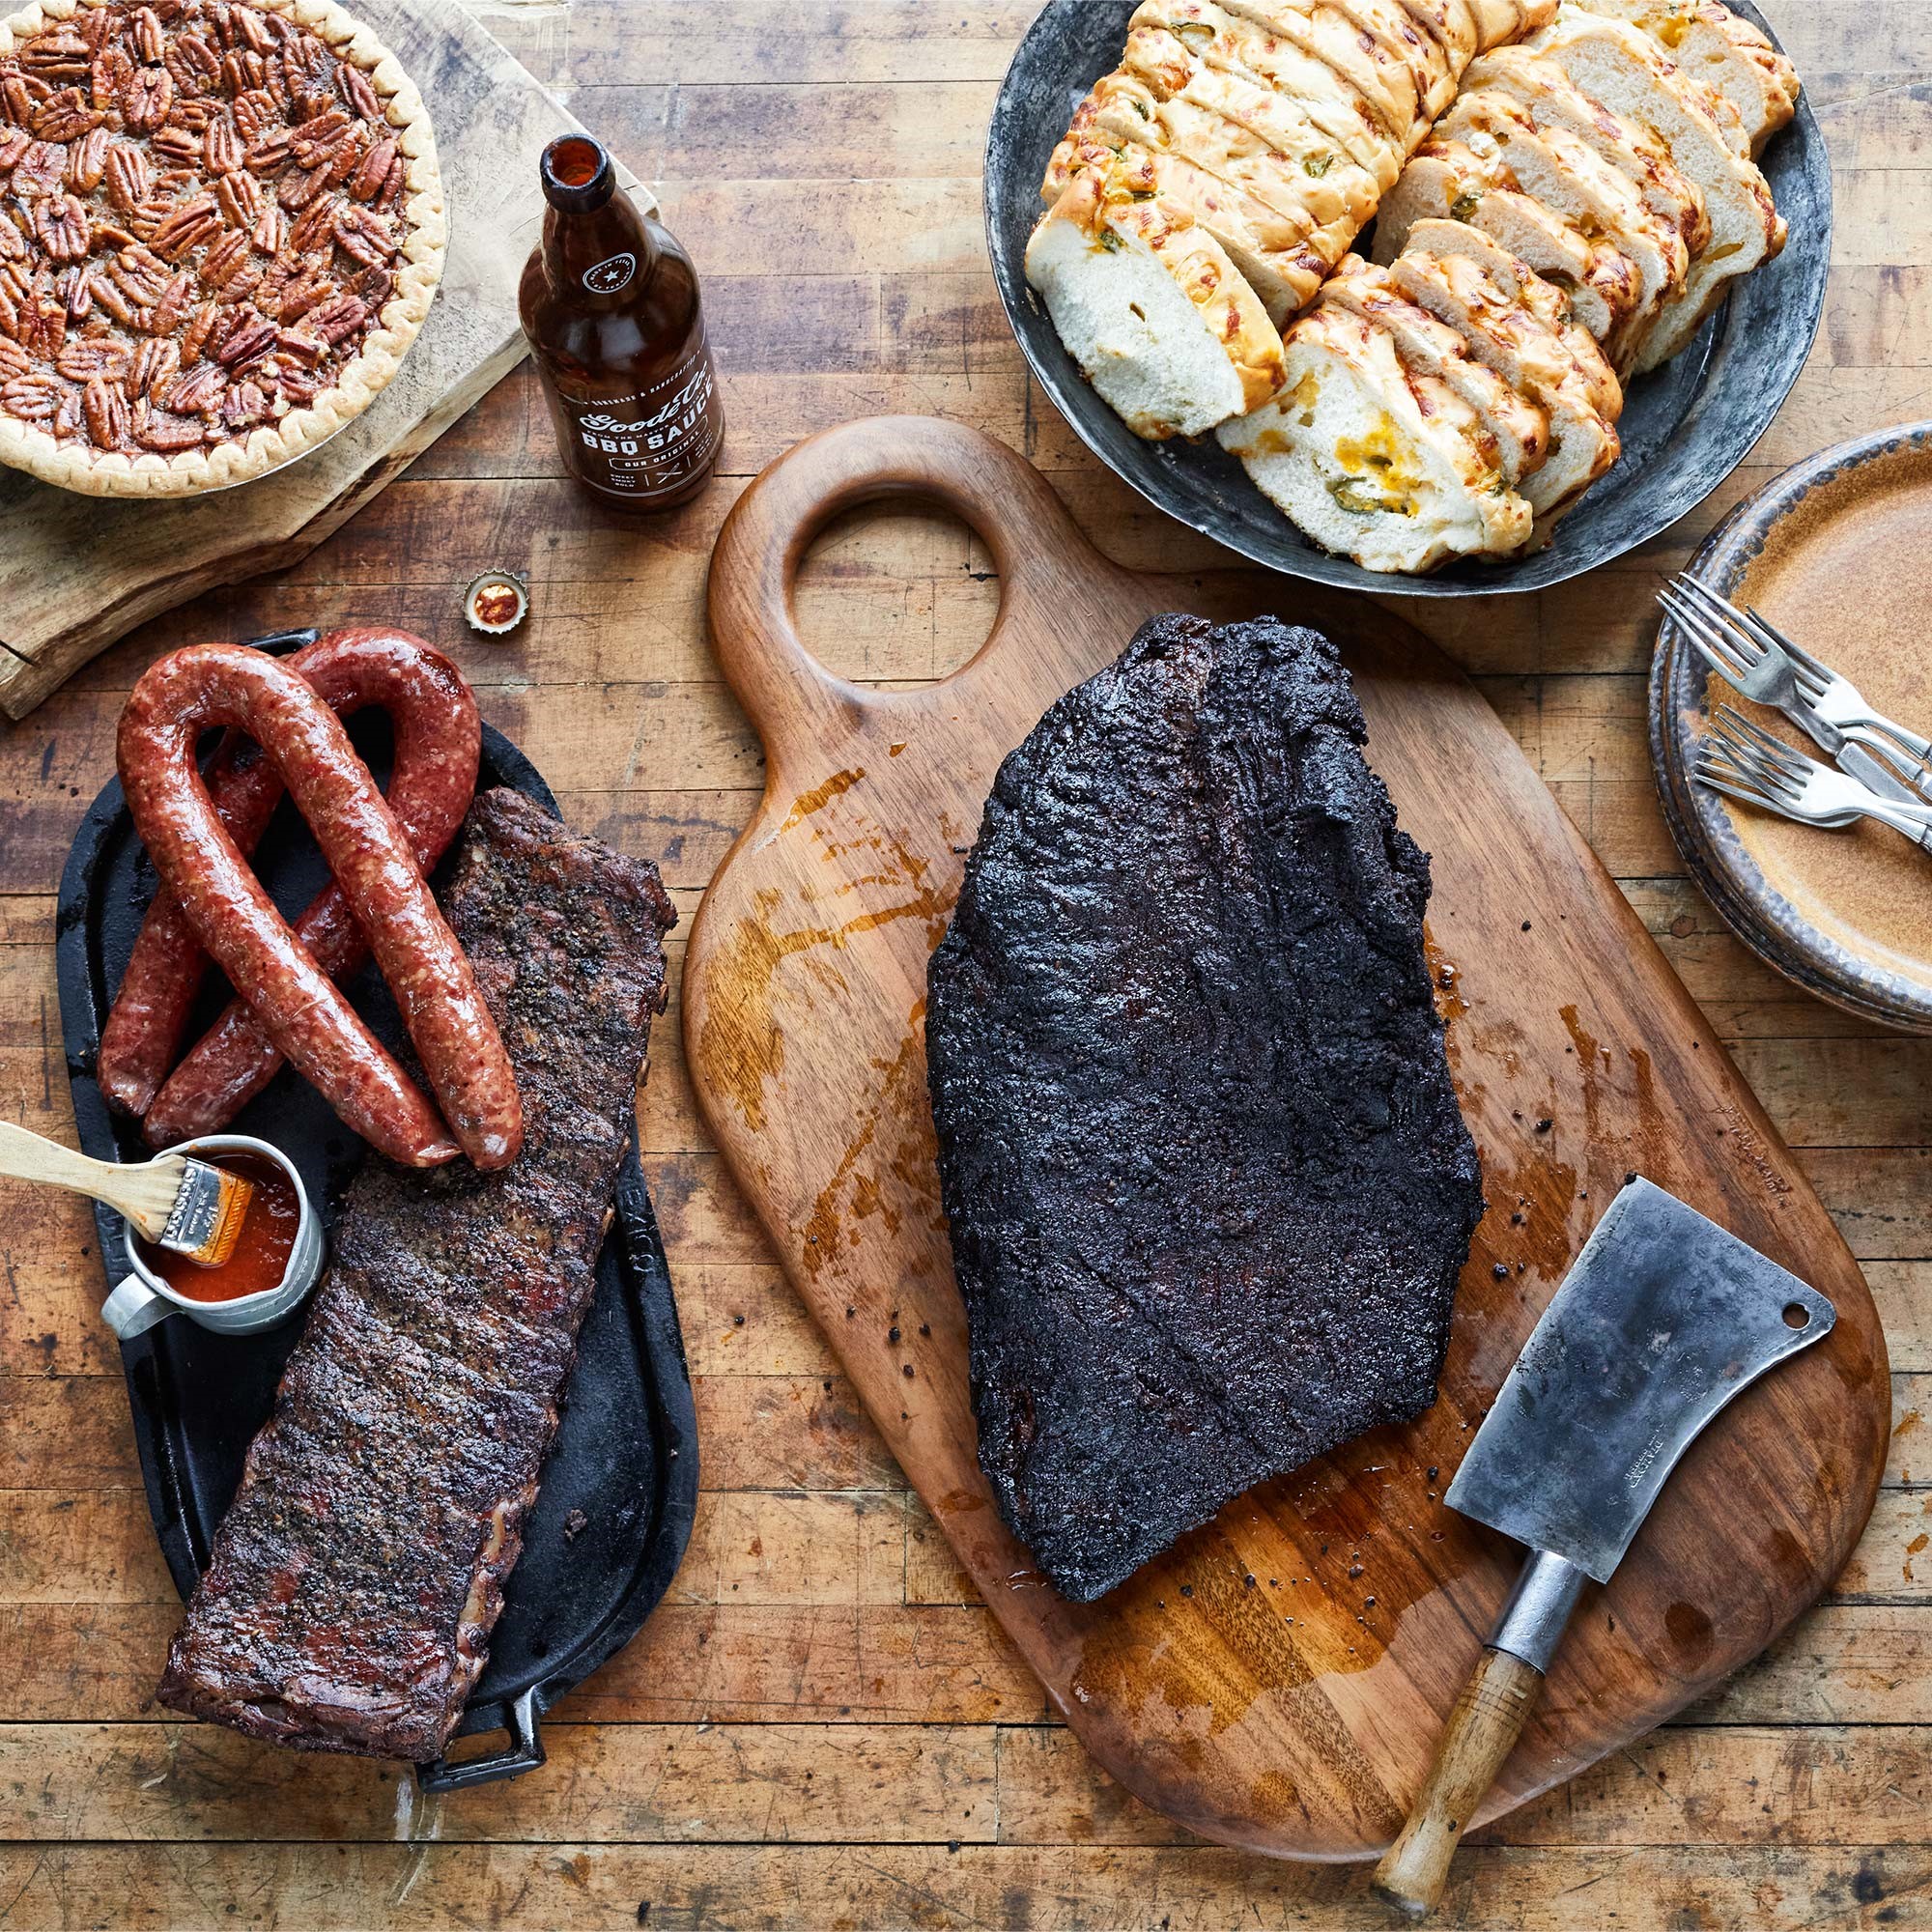
<path fill-rule="evenodd" d="M 724 435 L 697 270 L 589 135 L 543 151 L 543 197 L 520 307 L 564 464 L 603 502 L 668 510 L 703 487 Z"/>

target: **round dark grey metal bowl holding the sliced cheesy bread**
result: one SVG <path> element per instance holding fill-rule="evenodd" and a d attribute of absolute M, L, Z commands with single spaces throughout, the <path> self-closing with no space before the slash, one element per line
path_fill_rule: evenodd
<path fill-rule="evenodd" d="M 1690 348 L 1625 398 L 1623 458 L 1557 529 L 1509 562 L 1463 560 L 1428 578 L 1383 576 L 1316 549 L 1213 437 L 1144 442 L 1099 400 L 1026 286 L 1039 182 L 1094 81 L 1119 66 L 1136 0 L 1047 0 L 993 106 L 985 145 L 985 232 L 1007 321 L 1039 386 L 1080 440 L 1151 504 L 1258 564 L 1343 589 L 1403 597 L 1534 591 L 1607 564 L 1696 508 L 1750 452 L 1804 367 L 1832 263 L 1832 168 L 1808 100 L 1760 166 L 1791 224 L 1783 255 L 1747 276 Z M 1748 0 L 1729 6 L 1766 27 Z M 1358 243 L 1366 245 L 1366 243 Z"/>

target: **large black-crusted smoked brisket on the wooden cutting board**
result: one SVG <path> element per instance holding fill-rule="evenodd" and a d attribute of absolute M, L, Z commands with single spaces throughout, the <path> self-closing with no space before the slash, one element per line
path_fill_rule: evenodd
<path fill-rule="evenodd" d="M 1327 638 L 1157 618 L 1001 767 L 931 962 L 980 1463 L 1078 1602 L 1435 1399 L 1482 1173 L 1364 742 Z"/>

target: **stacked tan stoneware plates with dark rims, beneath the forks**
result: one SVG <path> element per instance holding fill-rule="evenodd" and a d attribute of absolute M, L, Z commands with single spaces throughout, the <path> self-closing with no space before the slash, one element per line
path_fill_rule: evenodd
<path fill-rule="evenodd" d="M 1888 514 L 1899 493 L 1918 500 L 1911 527 Z M 1928 730 L 1932 680 L 1918 649 L 1928 518 L 1932 423 L 1907 423 L 1820 450 L 1774 477 L 1712 531 L 1690 572 L 1735 603 L 1762 605 L 1774 624 L 1843 670 L 1880 711 Z M 1837 547 L 1828 576 L 1839 583 L 1839 622 L 1781 605 L 1772 582 L 1777 568 L 1820 543 Z M 1718 696 L 1741 703 L 1729 686 Z M 1918 972 L 1901 970 L 1911 964 L 1909 945 L 1862 935 L 1855 918 L 1837 933 L 1824 920 L 1826 906 L 1849 904 L 1861 873 L 1876 877 L 1893 904 L 1928 904 L 1932 862 L 1876 825 L 1855 833 L 1791 827 L 1787 835 L 1754 823 L 1750 806 L 1733 806 L 1692 782 L 1708 711 L 1710 672 L 1665 620 L 1650 667 L 1650 753 L 1663 817 L 1690 875 L 1737 937 L 1787 980 L 1861 1018 L 1932 1034 L 1932 916 Z M 1758 715 L 1770 730 L 1824 759 L 1795 724 L 1776 713 Z M 1768 831 L 1801 852 L 1803 871 L 1785 881 L 1766 875 L 1756 846 Z M 1874 866 L 1884 871 L 1866 871 Z"/>

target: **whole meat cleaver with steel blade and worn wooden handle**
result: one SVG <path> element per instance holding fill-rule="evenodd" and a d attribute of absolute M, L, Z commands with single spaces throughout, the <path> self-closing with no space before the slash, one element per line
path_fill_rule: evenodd
<path fill-rule="evenodd" d="M 1648 1180 L 1584 1242 L 1445 1501 L 1528 1544 L 1376 1889 L 1420 1918 L 1522 1731 L 1584 1586 L 1609 1582 L 1704 1424 L 1837 1310 Z"/>

